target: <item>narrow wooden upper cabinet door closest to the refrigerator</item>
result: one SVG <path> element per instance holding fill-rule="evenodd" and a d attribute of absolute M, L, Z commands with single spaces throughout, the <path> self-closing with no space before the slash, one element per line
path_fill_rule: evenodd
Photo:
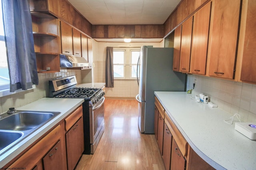
<path fill-rule="evenodd" d="M 177 27 L 174 31 L 174 51 L 173 51 L 173 65 L 174 71 L 180 70 L 180 40 L 181 40 L 182 25 Z"/>

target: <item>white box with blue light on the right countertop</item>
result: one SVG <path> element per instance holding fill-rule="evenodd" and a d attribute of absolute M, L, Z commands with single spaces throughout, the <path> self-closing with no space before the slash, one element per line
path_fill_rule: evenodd
<path fill-rule="evenodd" d="M 256 140 L 256 122 L 238 122 L 235 124 L 235 130 L 251 140 Z"/>

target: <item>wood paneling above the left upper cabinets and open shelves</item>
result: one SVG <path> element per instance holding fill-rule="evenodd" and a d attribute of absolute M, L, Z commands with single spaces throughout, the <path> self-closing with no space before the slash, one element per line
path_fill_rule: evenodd
<path fill-rule="evenodd" d="M 92 37 L 92 24 L 67 0 L 29 0 L 30 10 L 50 12 Z"/>

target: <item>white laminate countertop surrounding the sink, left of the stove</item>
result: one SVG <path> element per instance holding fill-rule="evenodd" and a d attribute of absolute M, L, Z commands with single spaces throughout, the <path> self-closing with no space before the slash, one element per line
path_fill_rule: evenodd
<path fill-rule="evenodd" d="M 64 119 L 64 117 L 74 111 L 74 109 L 80 106 L 83 102 L 84 99 L 42 98 L 25 106 L 16 108 L 17 110 L 26 111 L 57 111 L 60 112 L 60 114 L 12 147 L 12 149 L 2 154 L 0 156 L 0 169 L 44 135 L 44 133 L 54 127 L 58 122 Z"/>

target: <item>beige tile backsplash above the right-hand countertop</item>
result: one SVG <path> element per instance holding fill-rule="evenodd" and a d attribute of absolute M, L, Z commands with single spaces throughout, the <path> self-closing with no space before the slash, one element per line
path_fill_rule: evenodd
<path fill-rule="evenodd" d="M 196 86 L 192 97 L 204 93 L 212 103 L 230 115 L 238 113 L 242 121 L 256 122 L 256 84 L 192 74 L 188 75 L 187 90 L 192 89 L 194 82 Z"/>

